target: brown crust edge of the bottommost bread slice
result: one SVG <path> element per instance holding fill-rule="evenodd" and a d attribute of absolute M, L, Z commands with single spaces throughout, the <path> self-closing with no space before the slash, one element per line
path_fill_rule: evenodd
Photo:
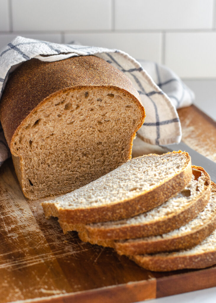
<path fill-rule="evenodd" d="M 151 271 L 172 271 L 185 268 L 205 268 L 216 264 L 216 251 L 190 256 L 129 256 L 139 266 Z"/>

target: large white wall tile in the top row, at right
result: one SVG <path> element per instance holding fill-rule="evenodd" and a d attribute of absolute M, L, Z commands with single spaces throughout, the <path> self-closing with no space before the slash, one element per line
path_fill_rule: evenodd
<path fill-rule="evenodd" d="M 115 0 L 116 29 L 206 29 L 214 0 Z"/>

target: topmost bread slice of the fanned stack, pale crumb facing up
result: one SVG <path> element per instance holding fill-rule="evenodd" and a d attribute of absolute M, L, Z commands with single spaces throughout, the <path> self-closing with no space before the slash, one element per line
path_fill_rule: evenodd
<path fill-rule="evenodd" d="M 69 194 L 42 203 L 46 217 L 71 225 L 128 218 L 161 205 L 191 180 L 186 152 L 133 158 Z"/>

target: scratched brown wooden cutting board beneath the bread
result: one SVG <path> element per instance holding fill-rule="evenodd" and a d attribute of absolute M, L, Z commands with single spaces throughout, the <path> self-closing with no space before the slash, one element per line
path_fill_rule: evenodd
<path fill-rule="evenodd" d="M 190 145 L 184 125 L 194 123 L 194 145 L 190 146 L 198 150 L 195 123 L 204 119 L 208 130 L 204 138 L 209 133 L 214 135 L 216 126 L 194 106 L 183 110 L 179 111 L 183 138 Z M 188 115 L 195 115 L 196 119 L 187 122 Z M 200 138 L 197 141 L 203 140 Z M 216 135 L 206 140 L 205 146 L 208 153 L 215 149 Z M 201 151 L 205 155 L 205 149 Z M 142 145 L 138 138 L 133 155 L 149 152 L 162 151 Z M 127 303 L 216 286 L 216 267 L 153 273 L 118 256 L 111 248 L 81 242 L 76 232 L 63 235 L 55 218 L 44 218 L 41 201 L 25 199 L 11 159 L 7 160 L 0 168 L 0 303 L 31 299 L 51 303 Z"/>

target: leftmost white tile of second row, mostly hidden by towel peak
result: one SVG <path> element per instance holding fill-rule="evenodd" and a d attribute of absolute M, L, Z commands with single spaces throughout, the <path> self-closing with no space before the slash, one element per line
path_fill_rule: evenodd
<path fill-rule="evenodd" d="M 16 36 L 23 36 L 31 39 L 39 39 L 49 42 L 61 43 L 61 35 L 60 34 L 0 34 L 0 48 L 7 45 L 11 40 L 13 40 Z"/>

